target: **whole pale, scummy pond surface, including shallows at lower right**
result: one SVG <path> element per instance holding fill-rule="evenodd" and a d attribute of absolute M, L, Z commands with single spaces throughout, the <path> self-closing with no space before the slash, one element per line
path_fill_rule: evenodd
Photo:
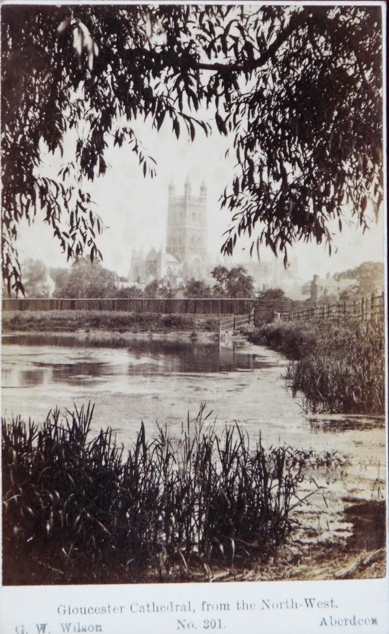
<path fill-rule="evenodd" d="M 188 413 L 194 418 L 206 403 L 220 434 L 236 421 L 252 446 L 261 434 L 265 447 L 287 444 L 333 456 L 328 469 L 315 472 L 315 486 L 323 489 L 301 512 L 307 531 L 316 526 L 322 540 L 341 538 L 345 500 L 377 496 L 377 480 L 385 488 L 385 427 L 364 417 L 316 417 L 310 424 L 302 399 L 286 390 L 286 366 L 281 355 L 244 340 L 146 336 L 114 347 L 109 339 L 96 346 L 79 337 L 4 335 L 1 411 L 6 419 L 41 422 L 56 406 L 65 416 L 74 404 L 91 401 L 93 430 L 111 426 L 131 448 L 141 421 L 150 438 L 156 422 L 179 434 Z M 307 479 L 305 492 L 312 487 Z"/>

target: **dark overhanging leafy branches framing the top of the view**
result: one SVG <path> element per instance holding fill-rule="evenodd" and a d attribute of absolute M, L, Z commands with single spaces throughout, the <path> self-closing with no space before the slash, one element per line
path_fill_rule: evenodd
<path fill-rule="evenodd" d="M 3 279 L 23 292 L 15 248 L 23 217 L 40 210 L 68 258 L 89 252 L 101 222 L 83 181 L 105 173 L 108 137 L 129 143 L 155 173 L 131 128 L 169 120 L 179 137 L 231 134 L 236 172 L 222 195 L 233 214 L 222 252 L 242 233 L 284 254 L 326 240 L 352 214 L 367 226 L 382 187 L 379 6 L 44 4 L 2 6 Z M 213 126 L 202 118 L 213 108 Z M 82 123 L 82 126 L 80 124 Z M 42 148 L 74 158 L 57 179 Z M 84 131 L 84 133 L 82 132 Z"/>

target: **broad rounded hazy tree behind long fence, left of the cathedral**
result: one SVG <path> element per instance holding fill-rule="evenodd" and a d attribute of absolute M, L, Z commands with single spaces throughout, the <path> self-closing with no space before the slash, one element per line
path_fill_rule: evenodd
<path fill-rule="evenodd" d="M 116 275 L 103 268 L 101 262 L 77 259 L 70 269 L 51 269 L 55 282 L 53 297 L 115 297 Z"/>

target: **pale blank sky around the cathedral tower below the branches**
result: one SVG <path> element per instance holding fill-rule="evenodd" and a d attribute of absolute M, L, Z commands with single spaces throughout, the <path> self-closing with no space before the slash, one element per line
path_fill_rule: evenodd
<path fill-rule="evenodd" d="M 106 154 L 108 167 L 105 176 L 86 183 L 96 204 L 96 212 L 105 224 L 105 230 L 98 238 L 103 266 L 120 276 L 127 276 L 132 249 L 143 249 L 146 254 L 152 246 L 159 249 L 165 245 L 169 183 L 174 183 L 176 195 L 181 195 L 188 176 L 194 195 L 199 194 L 203 181 L 207 186 L 208 250 L 210 257 L 216 260 L 224 242 L 222 234 L 230 220 L 228 210 L 220 210 L 219 198 L 226 185 L 231 183 L 234 172 L 233 154 L 226 157 L 232 139 L 217 132 L 206 137 L 199 129 L 191 143 L 184 133 L 177 140 L 167 120 L 159 133 L 151 129 L 150 124 L 135 123 L 132 126 L 134 131 L 146 151 L 156 160 L 156 177 L 143 177 L 143 169 L 139 167 L 130 146 L 113 148 L 111 144 Z M 72 137 L 68 136 L 63 158 L 43 150 L 42 175 L 56 177 L 60 167 L 72 157 L 72 141 Z M 303 280 L 311 279 L 314 273 L 324 276 L 328 272 L 333 274 L 355 268 L 368 260 L 384 261 L 385 226 L 383 213 L 378 224 L 372 219 L 371 228 L 364 234 L 355 220 L 347 226 L 345 219 L 340 234 L 336 221 L 333 230 L 330 228 L 334 238 L 331 257 L 324 243 L 297 243 L 290 250 L 289 257 L 297 261 L 298 275 Z M 49 267 L 68 266 L 60 244 L 53 239 L 53 231 L 39 219 L 32 226 L 27 223 L 21 226 L 16 244 L 20 261 L 33 257 L 41 259 Z M 227 262 L 234 266 L 248 261 L 250 244 L 248 240 L 241 240 L 240 244 L 238 241 L 234 256 Z M 257 256 L 253 254 L 253 257 Z M 264 262 L 272 261 L 274 255 L 263 245 L 260 258 Z"/>

